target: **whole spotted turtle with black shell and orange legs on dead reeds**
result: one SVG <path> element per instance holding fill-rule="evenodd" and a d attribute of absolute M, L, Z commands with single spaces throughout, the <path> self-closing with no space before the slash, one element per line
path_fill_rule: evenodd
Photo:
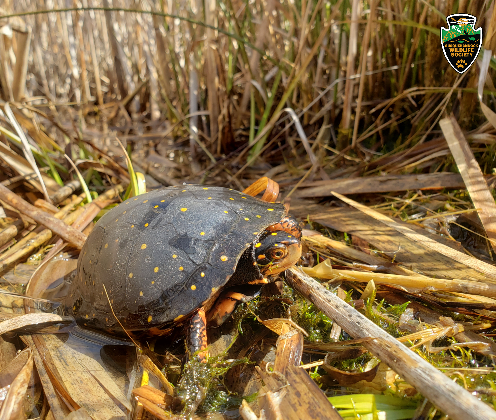
<path fill-rule="evenodd" d="M 200 350 L 206 323 L 222 324 L 237 302 L 294 265 L 300 239 L 300 226 L 279 203 L 217 186 L 151 191 L 98 220 L 65 311 L 112 335 L 124 335 L 122 324 L 136 338 L 189 325 L 190 350 Z"/>

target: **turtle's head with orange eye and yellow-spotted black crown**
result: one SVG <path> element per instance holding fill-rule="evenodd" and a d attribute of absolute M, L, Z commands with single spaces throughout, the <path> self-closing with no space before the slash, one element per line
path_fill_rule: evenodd
<path fill-rule="evenodd" d="M 264 276 L 292 267 L 302 255 L 302 242 L 285 231 L 264 233 L 255 244 L 255 262 Z"/>

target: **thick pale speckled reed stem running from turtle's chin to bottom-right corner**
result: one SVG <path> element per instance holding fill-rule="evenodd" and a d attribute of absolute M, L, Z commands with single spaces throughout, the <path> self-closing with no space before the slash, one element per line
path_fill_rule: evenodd
<path fill-rule="evenodd" d="M 373 337 L 364 346 L 404 377 L 450 419 L 496 420 L 496 412 L 399 343 L 369 318 L 329 292 L 298 268 L 286 270 L 288 284 L 354 338 Z M 453 402 L 456 401 L 456 404 Z"/>

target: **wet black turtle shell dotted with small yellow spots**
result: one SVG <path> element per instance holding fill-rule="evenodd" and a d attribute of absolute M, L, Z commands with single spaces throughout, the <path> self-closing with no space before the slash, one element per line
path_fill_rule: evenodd
<path fill-rule="evenodd" d="M 171 186 L 129 198 L 88 236 L 66 312 L 81 325 L 122 331 L 105 285 L 127 331 L 161 334 L 215 297 L 243 252 L 285 214 L 282 204 L 215 186 Z"/>

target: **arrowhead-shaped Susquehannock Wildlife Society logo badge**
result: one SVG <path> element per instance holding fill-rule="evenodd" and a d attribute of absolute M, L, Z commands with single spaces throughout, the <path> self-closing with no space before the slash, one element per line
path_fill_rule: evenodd
<path fill-rule="evenodd" d="M 451 14 L 446 18 L 448 29 L 441 28 L 444 57 L 458 73 L 473 64 L 482 44 L 482 28 L 475 29 L 477 18 L 471 14 Z"/>

